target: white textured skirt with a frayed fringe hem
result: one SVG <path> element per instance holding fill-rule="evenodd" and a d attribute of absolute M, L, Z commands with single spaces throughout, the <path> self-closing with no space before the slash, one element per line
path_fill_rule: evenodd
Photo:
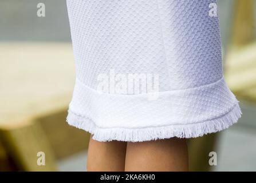
<path fill-rule="evenodd" d="M 97 141 L 147 141 L 237 122 L 212 2 L 67 0 L 77 73 L 69 124 Z"/>

